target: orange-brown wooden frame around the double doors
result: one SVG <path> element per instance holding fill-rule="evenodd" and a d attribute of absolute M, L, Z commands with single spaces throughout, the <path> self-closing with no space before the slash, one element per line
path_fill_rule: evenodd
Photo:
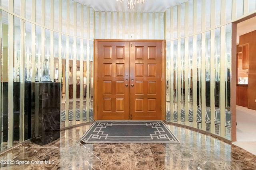
<path fill-rule="evenodd" d="M 161 74 L 161 120 L 166 120 L 166 41 L 155 39 L 94 39 L 94 74 L 93 74 L 93 113 L 98 120 L 98 42 L 161 42 L 162 43 L 162 74 Z"/>

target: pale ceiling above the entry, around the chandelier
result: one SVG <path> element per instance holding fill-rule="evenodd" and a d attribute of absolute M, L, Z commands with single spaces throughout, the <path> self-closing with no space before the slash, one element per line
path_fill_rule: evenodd
<path fill-rule="evenodd" d="M 144 4 L 137 4 L 133 10 L 129 10 L 126 0 L 118 2 L 116 0 L 74 0 L 85 6 L 93 8 L 95 11 L 105 12 L 165 12 L 167 8 L 177 6 L 188 0 L 146 0 Z"/>

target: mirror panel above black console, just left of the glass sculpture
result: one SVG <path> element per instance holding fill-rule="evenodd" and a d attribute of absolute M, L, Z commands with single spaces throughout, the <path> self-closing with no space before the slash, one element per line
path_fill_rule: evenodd
<path fill-rule="evenodd" d="M 41 58 L 42 58 L 42 33 L 41 33 L 41 27 L 36 25 L 36 40 L 35 40 L 35 46 L 36 46 L 36 55 L 35 55 L 35 81 L 40 81 L 40 75 L 41 75 Z"/>

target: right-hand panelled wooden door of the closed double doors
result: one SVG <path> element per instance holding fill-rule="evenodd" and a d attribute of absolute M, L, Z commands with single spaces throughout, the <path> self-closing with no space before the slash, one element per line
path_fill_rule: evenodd
<path fill-rule="evenodd" d="M 132 120 L 161 119 L 162 43 L 132 42 L 130 114 Z M 133 81 L 132 81 L 133 80 Z"/>

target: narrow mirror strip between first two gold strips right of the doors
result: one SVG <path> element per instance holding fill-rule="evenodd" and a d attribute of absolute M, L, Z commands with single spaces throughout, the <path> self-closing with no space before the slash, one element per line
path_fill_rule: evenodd
<path fill-rule="evenodd" d="M 178 46 L 178 41 L 174 41 L 174 53 L 173 53 L 173 110 L 174 110 L 174 115 L 173 115 L 173 121 L 177 122 L 178 121 L 178 106 L 177 106 L 177 102 L 178 102 L 178 88 L 177 88 L 177 84 L 178 84 L 178 66 L 177 66 L 177 46 Z M 171 113 L 172 114 L 172 113 Z"/>

